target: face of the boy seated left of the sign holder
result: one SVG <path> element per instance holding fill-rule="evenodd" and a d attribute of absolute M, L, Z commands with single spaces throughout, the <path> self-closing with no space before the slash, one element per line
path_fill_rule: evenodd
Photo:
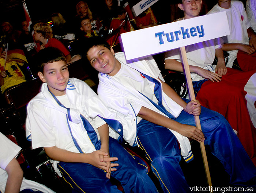
<path fill-rule="evenodd" d="M 38 76 L 42 82 L 47 83 L 50 92 L 55 96 L 66 94 L 69 73 L 65 61 L 46 63 L 44 72 L 38 72 Z"/>

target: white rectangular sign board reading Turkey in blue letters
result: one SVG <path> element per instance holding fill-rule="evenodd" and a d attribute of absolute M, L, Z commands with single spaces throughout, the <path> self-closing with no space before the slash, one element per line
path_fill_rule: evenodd
<path fill-rule="evenodd" d="M 121 34 L 127 60 L 229 35 L 226 12 Z"/>

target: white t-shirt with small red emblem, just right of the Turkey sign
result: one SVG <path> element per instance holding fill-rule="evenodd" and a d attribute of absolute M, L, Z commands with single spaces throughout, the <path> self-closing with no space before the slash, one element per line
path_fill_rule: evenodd
<path fill-rule="evenodd" d="M 229 23 L 230 35 L 223 36 L 222 39 L 224 43 L 244 43 L 249 44 L 249 37 L 247 29 L 251 27 L 251 23 L 247 18 L 244 4 L 241 1 L 231 1 L 231 7 L 229 9 L 224 9 L 219 7 L 219 5 L 214 5 L 214 7 L 207 13 L 218 13 L 226 11 L 227 21 Z M 227 67 L 232 67 L 233 62 L 236 59 L 238 50 L 228 51 L 229 61 Z"/>

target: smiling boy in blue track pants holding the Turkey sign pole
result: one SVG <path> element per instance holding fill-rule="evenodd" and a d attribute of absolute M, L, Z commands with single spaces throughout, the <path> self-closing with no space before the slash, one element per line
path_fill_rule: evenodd
<path fill-rule="evenodd" d="M 198 101 L 182 100 L 163 81 L 152 57 L 127 62 L 124 53 L 115 54 L 97 38 L 86 42 L 85 54 L 99 71 L 99 97 L 122 117 L 121 137 L 145 151 L 164 192 L 190 192 L 179 165 L 182 156 L 187 162 L 193 159 L 188 138 L 210 145 L 231 184 L 256 184 L 256 168 L 226 119 Z M 195 127 L 194 115 L 203 132 Z"/>

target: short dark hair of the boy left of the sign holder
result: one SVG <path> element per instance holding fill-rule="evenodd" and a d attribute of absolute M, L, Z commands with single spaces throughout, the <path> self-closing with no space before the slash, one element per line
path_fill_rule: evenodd
<path fill-rule="evenodd" d="M 35 63 L 37 67 L 37 72 L 44 72 L 44 66 L 47 63 L 52 63 L 52 62 L 58 62 L 58 61 L 65 61 L 66 62 L 66 57 L 56 47 L 46 47 L 42 50 L 40 50 L 36 55 L 35 55 Z"/>

